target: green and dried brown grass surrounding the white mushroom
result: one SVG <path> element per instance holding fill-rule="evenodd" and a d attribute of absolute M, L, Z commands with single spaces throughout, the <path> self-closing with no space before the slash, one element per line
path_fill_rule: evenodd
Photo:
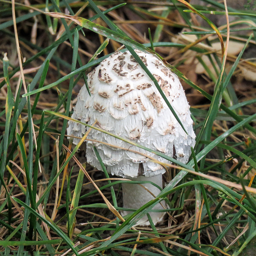
<path fill-rule="evenodd" d="M 246 75 L 255 72 L 254 6 L 0 3 L 0 255 L 256 255 L 256 90 Z M 212 22 L 227 14 L 236 19 Z M 227 51 L 234 42 L 238 54 Z M 167 60 L 197 135 L 187 164 L 154 152 L 173 162 L 166 186 L 125 221 L 121 184 L 129 181 L 84 164 L 86 135 L 75 148 L 66 138 L 86 74 L 122 44 L 142 66 L 133 48 Z M 164 222 L 133 227 L 162 200 Z"/>

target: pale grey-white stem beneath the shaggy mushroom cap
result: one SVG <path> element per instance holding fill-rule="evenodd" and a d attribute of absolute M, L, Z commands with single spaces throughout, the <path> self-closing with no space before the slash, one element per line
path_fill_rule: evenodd
<path fill-rule="evenodd" d="M 156 176 L 152 177 L 144 177 L 144 176 L 138 176 L 137 178 L 131 178 L 131 180 L 134 181 L 151 181 L 158 185 L 160 188 L 162 188 L 162 174 L 158 174 Z M 142 184 L 145 188 L 147 188 L 154 196 L 157 196 L 160 193 L 160 190 L 156 188 L 154 185 L 149 183 Z M 145 190 L 140 184 L 134 184 L 134 183 L 123 183 L 122 184 L 122 190 L 123 190 L 123 202 L 124 202 L 124 208 L 129 209 L 139 209 L 144 204 L 149 202 L 150 200 L 154 199 L 154 196 L 150 194 L 147 190 Z M 165 202 L 162 201 L 161 204 L 163 206 L 166 206 Z M 164 209 L 161 204 L 156 204 L 152 210 L 162 210 Z M 122 216 L 125 216 L 126 214 L 131 213 L 130 211 L 122 211 Z M 164 215 L 166 212 L 150 212 L 150 217 L 152 218 L 152 221 L 154 224 L 157 224 L 158 222 L 162 221 L 164 218 Z M 148 221 L 147 215 L 145 215 L 143 218 L 141 218 L 136 226 L 148 226 L 150 225 Z"/>

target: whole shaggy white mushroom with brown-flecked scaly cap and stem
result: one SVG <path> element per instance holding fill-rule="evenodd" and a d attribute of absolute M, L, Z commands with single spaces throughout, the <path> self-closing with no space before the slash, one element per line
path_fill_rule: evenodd
<path fill-rule="evenodd" d="M 191 147 L 195 144 L 195 134 L 190 106 L 180 81 L 152 54 L 140 50 L 135 52 L 158 81 L 187 134 L 178 124 L 152 80 L 128 51 L 112 54 L 88 74 L 91 96 L 84 85 L 78 94 L 72 118 L 90 125 L 96 121 L 96 127 L 100 129 L 186 163 L 191 154 Z M 73 143 L 78 144 L 79 138 L 86 132 L 86 126 L 69 121 L 67 131 L 68 136 L 78 137 L 73 139 Z M 168 160 L 99 130 L 92 129 L 87 138 L 90 140 L 86 142 L 86 158 L 90 165 L 102 170 L 93 150 L 93 146 L 96 146 L 108 173 L 130 180 L 151 181 L 162 188 L 162 174 L 166 169 L 145 154 L 163 163 L 170 163 Z M 151 193 L 139 184 L 122 184 L 124 208 L 138 209 L 160 192 L 159 188 L 150 183 L 142 185 Z M 153 210 L 163 209 L 163 206 L 164 204 L 157 204 Z M 128 213 L 130 212 L 123 211 L 122 215 Z M 164 212 L 151 212 L 150 216 L 156 224 L 163 219 Z M 147 220 L 145 216 L 139 224 L 148 225 Z"/>

